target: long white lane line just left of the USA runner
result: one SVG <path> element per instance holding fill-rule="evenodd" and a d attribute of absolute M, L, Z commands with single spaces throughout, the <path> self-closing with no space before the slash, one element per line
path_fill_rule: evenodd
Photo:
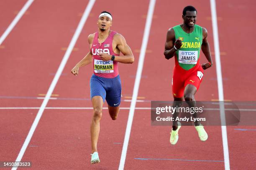
<path fill-rule="evenodd" d="M 79 37 L 79 35 L 80 35 L 81 31 L 82 31 L 82 28 L 84 27 L 84 23 L 86 22 L 89 14 L 90 14 L 90 11 L 92 10 L 92 7 L 93 7 L 94 3 L 95 3 L 95 0 L 90 0 L 88 2 L 88 5 L 87 5 L 86 9 L 84 10 L 84 14 L 83 14 L 83 16 L 82 16 L 82 18 L 81 18 L 81 20 L 79 22 L 79 25 L 77 26 L 76 32 L 74 33 L 74 35 L 72 37 L 72 40 L 69 43 L 69 47 L 68 47 L 68 49 L 67 49 L 67 51 L 66 51 L 66 53 L 65 53 L 65 55 L 64 55 L 64 57 L 63 57 L 63 59 L 61 61 L 61 64 L 59 65 L 59 68 L 58 68 L 58 70 L 56 72 L 56 75 L 54 76 L 54 79 L 51 82 L 51 85 L 50 85 L 49 90 L 48 90 L 48 92 L 46 94 L 46 97 L 45 97 L 45 99 L 44 99 L 44 101 L 43 101 L 43 103 L 42 103 L 42 105 L 41 105 L 41 107 L 40 107 L 40 109 L 39 109 L 39 111 L 38 111 L 38 113 L 36 115 L 36 118 L 35 118 L 32 126 L 31 126 L 30 130 L 29 130 L 28 136 L 27 136 L 25 142 L 23 143 L 22 148 L 20 149 L 20 153 L 19 153 L 19 155 L 18 155 L 18 157 L 16 159 L 17 162 L 22 159 L 22 157 L 23 157 L 23 155 L 24 155 L 24 153 L 26 151 L 26 148 L 28 147 L 28 143 L 30 142 L 30 140 L 31 140 L 31 138 L 33 136 L 33 133 L 36 130 L 36 126 L 38 125 L 38 122 L 39 122 L 39 120 L 41 118 L 41 115 L 44 112 L 44 109 L 45 109 L 45 107 L 46 107 L 46 105 L 47 105 L 47 103 L 48 103 L 48 101 L 49 101 L 49 99 L 51 97 L 51 94 L 52 94 L 53 90 L 54 90 L 54 87 L 56 86 L 56 84 L 57 84 L 57 82 L 59 80 L 59 77 L 61 75 L 61 72 L 63 71 L 63 69 L 64 69 L 64 67 L 65 67 L 65 65 L 67 63 L 67 60 L 69 59 L 69 56 L 70 56 L 70 54 L 72 52 L 72 49 L 74 48 L 74 45 L 77 42 L 77 39 L 78 39 L 78 37 Z M 15 167 L 12 168 L 12 170 L 16 170 L 16 169 L 17 168 L 15 168 Z"/>

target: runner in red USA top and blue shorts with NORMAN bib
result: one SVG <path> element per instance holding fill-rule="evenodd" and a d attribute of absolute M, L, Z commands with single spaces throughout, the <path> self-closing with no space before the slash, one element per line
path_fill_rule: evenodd
<path fill-rule="evenodd" d="M 118 62 L 133 63 L 134 57 L 131 48 L 126 44 L 125 38 L 110 30 L 112 15 L 103 11 L 97 21 L 98 31 L 88 36 L 90 52 L 75 65 L 72 74 L 78 75 L 79 67 L 93 63 L 94 74 L 90 80 L 93 117 L 91 132 L 91 163 L 100 163 L 97 140 L 100 133 L 100 118 L 102 106 L 108 102 L 110 117 L 116 120 L 121 102 L 121 81 L 118 74 Z M 120 52 L 123 56 L 119 56 Z"/>

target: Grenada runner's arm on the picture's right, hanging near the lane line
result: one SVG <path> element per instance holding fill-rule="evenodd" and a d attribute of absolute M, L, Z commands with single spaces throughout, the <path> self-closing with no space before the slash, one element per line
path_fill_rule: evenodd
<path fill-rule="evenodd" d="M 202 52 L 204 53 L 206 59 L 208 60 L 207 63 L 202 64 L 202 68 L 205 70 L 209 67 L 212 66 L 212 56 L 211 56 L 211 51 L 210 51 L 210 45 L 207 41 L 207 30 L 205 28 L 202 28 L 202 35 L 203 35 L 203 40 L 202 40 Z"/>

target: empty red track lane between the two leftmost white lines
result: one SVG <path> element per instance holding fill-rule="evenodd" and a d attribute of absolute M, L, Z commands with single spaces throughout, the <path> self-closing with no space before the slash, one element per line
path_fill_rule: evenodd
<path fill-rule="evenodd" d="M 84 1 L 80 1 L 84 2 Z M 61 4 L 61 7 L 59 5 Z M 5 49 L 0 50 L 3 70 L 10 70 L 10 74 L 0 72 L 1 96 L 38 96 L 46 93 L 53 78 L 53 73 L 59 66 L 64 55 L 61 47 L 67 45 L 73 35 L 72 28 L 77 26 L 79 19 L 77 12 L 83 11 L 81 5 L 72 1 L 36 1 L 29 8 L 30 15 L 24 15 L 5 40 Z M 11 67 L 10 67 L 11 66 Z M 18 86 L 17 86 L 18 85 Z M 41 97 L 41 96 L 40 96 Z M 38 107 L 42 100 L 31 99 L 1 99 L 1 107 L 5 106 L 32 106 Z M 8 159 L 14 161 L 24 143 L 31 127 L 30 110 L 17 111 L 1 110 L 1 117 L 15 123 L 16 128 L 10 126 L 3 128 L 6 138 L 10 140 L 6 152 L 10 151 Z M 15 115 L 10 119 L 10 115 Z M 20 127 L 21 126 L 21 127 Z M 10 136 L 10 134 L 13 134 Z M 11 139 L 16 138 L 15 142 Z M 5 143 L 1 142 L 1 146 Z"/>

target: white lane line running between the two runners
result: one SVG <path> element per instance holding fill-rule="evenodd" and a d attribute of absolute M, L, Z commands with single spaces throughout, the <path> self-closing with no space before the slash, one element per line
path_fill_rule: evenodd
<path fill-rule="evenodd" d="M 119 164 L 118 170 L 123 170 L 124 165 L 125 165 L 125 158 L 126 158 L 129 138 L 130 138 L 130 134 L 131 134 L 131 126 L 133 123 L 134 109 L 135 109 L 136 100 L 138 97 L 138 89 L 140 86 L 143 62 L 144 62 L 144 58 L 145 58 L 146 48 L 148 45 L 148 37 L 149 37 L 150 28 L 151 28 L 151 22 L 152 22 L 155 4 L 156 4 L 156 0 L 150 0 L 149 6 L 148 6 L 148 14 L 147 14 L 147 20 L 146 20 L 146 25 L 145 25 L 145 29 L 144 29 L 143 40 L 142 40 L 142 44 L 141 44 L 141 53 L 139 56 L 137 73 L 136 73 L 135 83 L 134 83 L 134 87 L 133 87 L 133 97 L 132 97 L 131 106 L 130 106 L 131 109 L 129 111 L 127 126 L 126 126 L 126 130 L 125 130 L 125 138 L 123 141 L 123 149 L 122 149 L 122 154 L 121 154 L 121 159 L 120 159 L 120 164 Z"/>

